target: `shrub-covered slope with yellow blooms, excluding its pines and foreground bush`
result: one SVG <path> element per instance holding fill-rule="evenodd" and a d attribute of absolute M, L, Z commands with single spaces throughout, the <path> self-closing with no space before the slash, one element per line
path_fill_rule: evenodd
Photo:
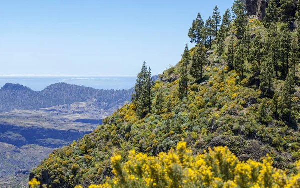
<path fill-rule="evenodd" d="M 259 21 L 251 19 L 250 29 L 252 42 L 258 33 L 265 38 L 266 29 Z M 229 46 L 230 37 L 225 38 L 225 46 Z M 274 117 L 269 106 L 272 100 L 259 89 L 258 78 L 253 78 L 250 71 L 245 71 L 242 78 L 228 67 L 225 55 L 219 56 L 215 51 L 207 51 L 207 55 L 203 80 L 197 82 L 188 74 L 187 97 L 181 100 L 178 95 L 180 70 L 184 66 L 181 60 L 160 75 L 161 81 L 155 82 L 151 91 L 152 113 L 141 119 L 136 115 L 136 103 L 124 105 L 91 134 L 55 150 L 32 171 L 30 178 L 37 177 L 52 188 L 73 188 L 77 184 L 87 187 L 113 176 L 113 153 L 121 155 L 123 162 L 133 149 L 157 155 L 175 147 L 182 138 L 194 154 L 209 147 L 228 146 L 240 160 L 259 161 L 269 153 L 274 166 L 292 172 L 292 162 L 300 157 L 299 100 L 294 97 L 292 122 Z M 279 93 L 283 82 L 278 79 L 275 83 Z M 299 91 L 299 83 L 296 84 Z M 155 107 L 156 101 L 161 101 L 158 99 L 162 100 L 161 111 Z M 262 123 L 260 110 L 264 102 L 268 120 Z"/>

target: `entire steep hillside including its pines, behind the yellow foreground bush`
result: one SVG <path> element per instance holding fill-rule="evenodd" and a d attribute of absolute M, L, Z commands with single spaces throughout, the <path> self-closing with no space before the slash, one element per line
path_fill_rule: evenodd
<path fill-rule="evenodd" d="M 144 64 L 132 102 L 105 118 L 93 133 L 50 154 L 33 170 L 31 178 L 35 176 L 52 188 L 72 188 L 78 184 L 88 187 L 113 176 L 110 162 L 113 154 L 121 156 L 118 158 L 121 163 L 135 160 L 131 150 L 159 156 L 184 138 L 193 154 L 204 153 L 207 158 L 205 149 L 214 146 L 227 146 L 241 161 L 261 161 L 269 153 L 262 163 L 255 163 L 255 168 L 250 167 L 252 161 L 236 162 L 242 165 L 240 172 L 234 166 L 228 174 L 213 174 L 215 181 L 225 184 L 231 180 L 231 187 L 240 186 L 234 183 L 235 177 L 244 177 L 245 182 L 247 178 L 261 178 L 264 167 L 270 173 L 265 174 L 264 181 L 271 181 L 271 185 L 280 184 L 281 178 L 292 181 L 293 178 L 270 165 L 286 174 L 295 173 L 293 162 L 300 159 L 300 103 L 296 92 L 300 27 L 295 27 L 300 17 L 299 13 L 295 17 L 286 16 L 291 0 L 280 2 L 277 6 L 275 0 L 269 1 L 262 22 L 247 16 L 244 0 L 235 0 L 233 22 L 229 10 L 220 23 L 216 7 L 205 25 L 199 13 L 188 32 L 196 47 L 189 49 L 186 45 L 179 63 L 164 71 L 161 80 L 154 84 Z M 276 5 L 271 6 L 272 3 Z M 138 160 L 135 161 L 138 165 Z M 112 164 L 115 165 L 114 161 Z M 217 164 L 213 161 L 209 165 L 214 168 Z M 114 172 L 118 181 L 121 176 Z M 250 176 L 249 172 L 258 174 Z M 296 181 L 297 176 L 294 176 Z M 146 179 L 142 179 L 136 184 L 145 183 Z M 270 188 L 268 183 L 256 185 L 254 179 L 248 182 L 240 187 Z M 135 184 L 134 181 L 128 184 L 131 183 Z M 122 182 L 119 185 L 128 187 Z M 287 185 L 277 187 L 280 186 Z"/>

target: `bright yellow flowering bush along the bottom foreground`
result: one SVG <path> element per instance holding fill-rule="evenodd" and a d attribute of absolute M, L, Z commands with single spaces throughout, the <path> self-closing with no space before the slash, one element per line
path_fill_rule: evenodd
<path fill-rule="evenodd" d="M 286 175 L 273 168 L 269 156 L 260 162 L 241 162 L 227 147 L 215 147 L 204 154 L 192 155 L 186 142 L 176 150 L 147 156 L 131 151 L 129 160 L 120 163 L 121 156 L 111 157 L 115 178 L 89 188 L 299 188 L 298 173 Z M 36 188 L 36 179 L 29 182 Z M 38 182 L 37 182 L 38 183 Z M 75 188 L 82 188 L 76 186 Z"/>

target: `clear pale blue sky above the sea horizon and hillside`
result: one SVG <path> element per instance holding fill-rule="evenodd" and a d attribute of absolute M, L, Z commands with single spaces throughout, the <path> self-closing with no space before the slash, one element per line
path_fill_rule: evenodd
<path fill-rule="evenodd" d="M 162 73 L 181 57 L 198 12 L 234 0 L 2 0 L 0 74 Z M 192 44 L 189 44 L 192 46 Z"/>

